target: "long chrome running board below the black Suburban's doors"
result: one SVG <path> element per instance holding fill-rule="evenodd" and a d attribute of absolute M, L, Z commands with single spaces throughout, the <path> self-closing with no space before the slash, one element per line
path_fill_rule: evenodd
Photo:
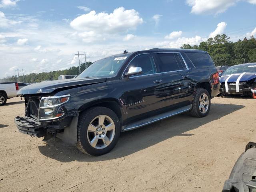
<path fill-rule="evenodd" d="M 171 111 L 168 111 L 168 112 L 164 112 L 164 113 L 156 115 L 156 116 L 152 116 L 150 118 L 146 118 L 146 119 L 143 119 L 143 120 L 136 121 L 134 123 L 128 124 L 122 130 L 122 132 L 133 130 L 133 129 L 136 129 L 136 128 L 139 128 L 139 127 L 142 127 L 142 126 L 160 121 L 162 119 L 165 119 L 165 118 L 168 118 L 168 117 L 171 117 L 171 116 L 174 116 L 174 115 L 178 115 L 180 113 L 184 113 L 186 111 L 189 111 L 191 108 L 192 108 L 192 105 L 188 105 L 188 106 L 184 106 L 184 107 L 174 109 L 174 110 L 171 110 Z"/>

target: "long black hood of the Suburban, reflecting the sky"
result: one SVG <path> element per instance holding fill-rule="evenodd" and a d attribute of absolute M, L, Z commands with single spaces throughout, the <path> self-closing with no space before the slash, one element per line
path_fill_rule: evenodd
<path fill-rule="evenodd" d="M 18 95 L 24 94 L 40 94 L 51 93 L 59 88 L 67 88 L 70 86 L 83 86 L 87 84 L 96 84 L 105 82 L 107 78 L 74 78 L 67 80 L 53 80 L 35 83 L 23 87 L 18 91 Z"/>

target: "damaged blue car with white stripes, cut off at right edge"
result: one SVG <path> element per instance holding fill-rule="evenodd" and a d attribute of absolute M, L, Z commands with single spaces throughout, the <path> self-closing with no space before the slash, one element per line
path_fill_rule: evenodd
<path fill-rule="evenodd" d="M 234 65 L 220 77 L 222 95 L 251 96 L 256 89 L 256 63 Z"/>

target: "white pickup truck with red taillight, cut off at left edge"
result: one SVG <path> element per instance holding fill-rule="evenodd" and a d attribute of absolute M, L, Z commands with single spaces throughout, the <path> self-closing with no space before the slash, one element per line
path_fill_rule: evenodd
<path fill-rule="evenodd" d="M 0 106 L 4 105 L 7 99 L 16 97 L 18 90 L 17 82 L 0 83 Z"/>

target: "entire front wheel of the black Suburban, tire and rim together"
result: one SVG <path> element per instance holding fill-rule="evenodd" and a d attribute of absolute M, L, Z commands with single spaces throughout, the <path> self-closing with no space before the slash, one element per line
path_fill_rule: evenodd
<path fill-rule="evenodd" d="M 86 154 L 100 156 L 110 152 L 120 136 L 117 115 L 106 107 L 82 112 L 77 126 L 77 148 Z"/>

